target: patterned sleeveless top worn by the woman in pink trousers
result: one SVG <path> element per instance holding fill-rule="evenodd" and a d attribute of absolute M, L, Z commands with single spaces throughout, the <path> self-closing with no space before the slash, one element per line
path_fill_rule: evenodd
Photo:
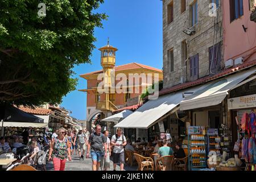
<path fill-rule="evenodd" d="M 54 139 L 54 147 L 53 147 L 53 156 L 55 158 L 59 158 L 61 160 L 67 159 L 68 157 L 68 140 L 64 139 L 63 142 L 60 142 L 58 139 Z"/>

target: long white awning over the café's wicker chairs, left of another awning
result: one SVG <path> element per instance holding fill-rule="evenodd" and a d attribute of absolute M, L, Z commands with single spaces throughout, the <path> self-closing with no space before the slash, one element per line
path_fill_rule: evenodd
<path fill-rule="evenodd" d="M 177 106 L 183 100 L 184 92 L 195 92 L 196 89 L 198 87 L 165 94 L 157 100 L 149 100 L 114 127 L 148 129 L 170 111 L 174 113 L 179 109 Z"/>

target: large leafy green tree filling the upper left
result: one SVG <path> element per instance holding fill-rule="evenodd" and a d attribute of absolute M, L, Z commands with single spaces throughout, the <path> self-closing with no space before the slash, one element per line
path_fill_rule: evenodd
<path fill-rule="evenodd" d="M 0 1 L 0 104 L 59 104 L 76 89 L 72 68 L 90 63 L 104 0 Z M 39 16 L 39 3 L 46 16 Z"/>

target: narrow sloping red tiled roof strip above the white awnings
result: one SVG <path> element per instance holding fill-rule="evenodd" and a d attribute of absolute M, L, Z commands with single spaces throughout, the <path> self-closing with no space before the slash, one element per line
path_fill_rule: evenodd
<path fill-rule="evenodd" d="M 204 84 L 205 82 L 216 80 L 217 78 L 220 78 L 222 76 L 226 76 L 226 75 L 232 74 L 234 72 L 241 71 L 242 69 L 249 68 L 249 67 L 252 67 L 254 65 L 256 65 L 256 60 L 250 61 L 249 63 L 241 64 L 240 66 L 235 67 L 235 68 L 226 69 L 225 71 L 223 71 L 221 73 L 217 73 L 216 75 L 213 75 L 213 76 L 203 77 L 203 78 L 200 78 L 200 79 L 195 80 L 195 81 L 191 81 L 191 82 L 187 82 L 187 83 L 184 83 L 184 84 L 172 86 L 171 88 L 162 89 L 162 90 L 159 91 L 159 95 L 175 92 L 177 90 L 189 88 L 191 86 L 196 86 L 196 85 L 199 85 L 199 84 Z"/>

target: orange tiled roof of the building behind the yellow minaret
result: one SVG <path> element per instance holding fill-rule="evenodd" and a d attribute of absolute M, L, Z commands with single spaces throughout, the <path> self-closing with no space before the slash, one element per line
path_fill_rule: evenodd
<path fill-rule="evenodd" d="M 139 64 L 139 63 L 123 64 L 123 65 L 119 65 L 117 67 L 114 67 L 114 69 L 115 69 L 116 72 L 118 72 L 118 71 L 126 71 L 126 70 L 129 70 L 129 69 L 150 69 L 151 71 L 163 72 L 161 69 L 149 67 L 147 65 Z M 80 76 L 94 75 L 94 74 L 100 74 L 100 73 L 103 73 L 103 71 L 102 70 L 94 71 L 94 72 L 82 74 Z"/>

